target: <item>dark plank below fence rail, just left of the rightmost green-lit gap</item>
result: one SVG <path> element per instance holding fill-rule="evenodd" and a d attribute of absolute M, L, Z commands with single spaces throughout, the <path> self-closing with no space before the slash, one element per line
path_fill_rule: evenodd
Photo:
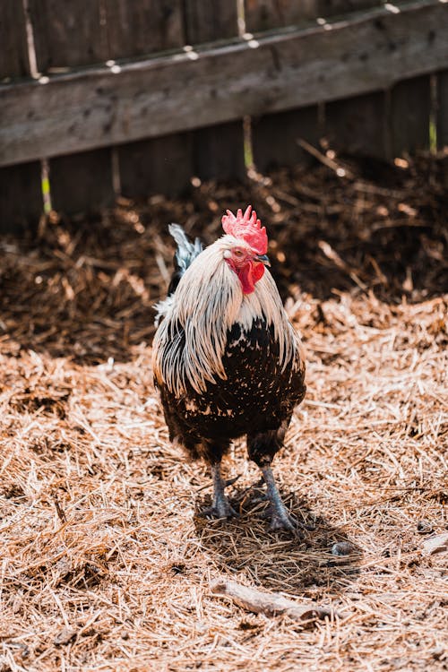
<path fill-rule="evenodd" d="M 391 158 L 429 148 L 429 77 L 399 82 L 391 91 Z"/>

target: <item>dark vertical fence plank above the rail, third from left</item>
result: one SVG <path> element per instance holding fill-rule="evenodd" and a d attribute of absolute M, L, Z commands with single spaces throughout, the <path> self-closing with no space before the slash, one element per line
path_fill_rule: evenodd
<path fill-rule="evenodd" d="M 182 0 L 103 0 L 108 58 L 144 56 L 182 47 Z"/>

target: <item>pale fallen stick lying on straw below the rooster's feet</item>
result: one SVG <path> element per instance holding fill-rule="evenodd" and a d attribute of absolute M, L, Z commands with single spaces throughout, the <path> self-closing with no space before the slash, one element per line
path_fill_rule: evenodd
<path fill-rule="evenodd" d="M 235 581 L 218 579 L 211 584 L 211 592 L 235 600 L 237 604 L 255 614 L 275 616 L 286 614 L 295 621 L 311 621 L 316 618 L 341 616 L 332 607 L 319 607 L 315 602 L 297 604 L 292 599 L 283 598 L 279 593 L 269 593 L 243 586 Z"/>

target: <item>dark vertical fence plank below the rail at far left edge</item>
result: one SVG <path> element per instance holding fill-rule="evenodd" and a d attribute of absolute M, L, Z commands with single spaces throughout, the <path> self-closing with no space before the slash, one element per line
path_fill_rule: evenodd
<path fill-rule="evenodd" d="M 42 210 L 39 161 L 0 168 L 0 233 L 36 224 Z"/>

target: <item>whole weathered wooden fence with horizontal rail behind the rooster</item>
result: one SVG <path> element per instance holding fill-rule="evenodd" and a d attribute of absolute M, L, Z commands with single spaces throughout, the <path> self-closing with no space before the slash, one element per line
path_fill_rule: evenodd
<path fill-rule="evenodd" d="M 68 213 L 242 178 L 244 118 L 262 171 L 448 144 L 447 0 L 2 0 L 0 50 L 0 230 L 42 165 Z"/>

